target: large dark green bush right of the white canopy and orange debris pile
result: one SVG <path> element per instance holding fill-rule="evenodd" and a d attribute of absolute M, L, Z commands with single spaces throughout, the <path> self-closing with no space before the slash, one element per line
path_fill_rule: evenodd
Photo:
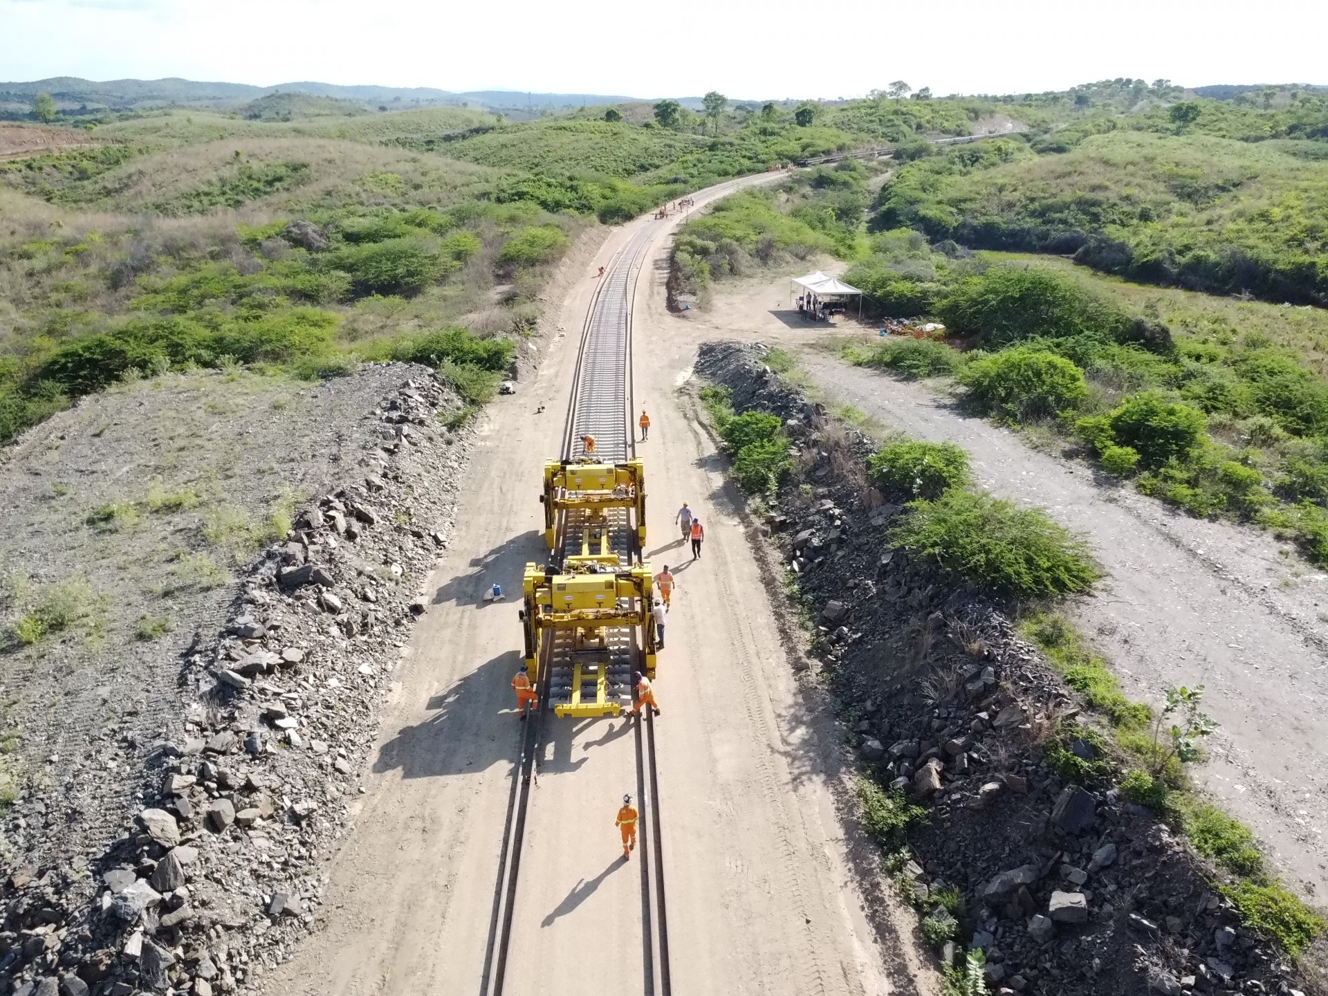
<path fill-rule="evenodd" d="M 1130 325 L 1114 304 L 1042 267 L 999 266 L 969 276 L 940 301 L 938 313 L 950 333 L 981 335 L 991 345 L 1082 335 L 1109 340 Z"/>

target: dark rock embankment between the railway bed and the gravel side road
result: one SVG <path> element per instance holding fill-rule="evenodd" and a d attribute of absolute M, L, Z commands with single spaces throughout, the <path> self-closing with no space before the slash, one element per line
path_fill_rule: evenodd
<path fill-rule="evenodd" d="M 1291 959 L 1239 926 L 1202 862 L 1118 790 L 1062 782 L 1052 734 L 1090 724 L 1001 607 L 903 550 L 900 509 L 861 473 L 861 433 L 773 376 L 760 345 L 710 344 L 697 371 L 738 412 L 778 414 L 798 452 L 766 531 L 814 620 L 813 651 L 865 772 L 930 818 L 898 883 L 922 914 L 963 898 L 959 943 L 995 993 L 1264 992 L 1303 985 Z M 846 457 L 851 459 L 846 459 Z M 850 463 L 858 473 L 843 473 Z M 1093 758 L 1085 734 L 1070 749 Z"/>

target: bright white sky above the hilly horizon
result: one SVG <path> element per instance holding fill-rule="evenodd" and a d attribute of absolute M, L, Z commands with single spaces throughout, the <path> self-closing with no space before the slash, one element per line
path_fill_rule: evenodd
<path fill-rule="evenodd" d="M 0 0 L 0 80 L 857 97 L 1328 84 L 1325 0 Z"/>

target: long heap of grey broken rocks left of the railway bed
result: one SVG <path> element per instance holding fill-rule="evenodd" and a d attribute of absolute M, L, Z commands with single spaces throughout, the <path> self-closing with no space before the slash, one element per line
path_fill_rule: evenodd
<path fill-rule="evenodd" d="M 0 993 L 246 992 L 309 930 L 317 861 L 363 791 L 376 706 L 452 530 L 467 440 L 438 416 L 457 408 L 418 368 L 369 416 L 359 466 L 251 563 L 219 631 L 195 633 L 175 714 L 125 745 L 142 791 L 109 849 L 9 854 Z M 25 791 L 11 841 L 49 798 Z"/>

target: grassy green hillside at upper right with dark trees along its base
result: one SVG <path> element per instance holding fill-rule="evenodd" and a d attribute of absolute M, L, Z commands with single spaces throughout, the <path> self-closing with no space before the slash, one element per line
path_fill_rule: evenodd
<path fill-rule="evenodd" d="M 1031 141 L 918 158 L 882 190 L 875 227 L 1328 304 L 1328 142 L 1315 138 L 1328 134 L 1328 101 L 1186 106 L 1198 116 L 1189 122 L 1162 108 L 1096 116 Z"/>

